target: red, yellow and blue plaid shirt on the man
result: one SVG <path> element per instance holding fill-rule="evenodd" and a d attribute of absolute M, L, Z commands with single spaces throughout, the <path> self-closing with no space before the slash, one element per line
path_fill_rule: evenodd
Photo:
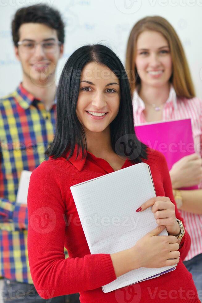
<path fill-rule="evenodd" d="M 27 255 L 27 205 L 16 204 L 22 170 L 43 160 L 55 131 L 56 104 L 47 111 L 22 84 L 0 100 L 0 276 L 33 284 Z"/>

